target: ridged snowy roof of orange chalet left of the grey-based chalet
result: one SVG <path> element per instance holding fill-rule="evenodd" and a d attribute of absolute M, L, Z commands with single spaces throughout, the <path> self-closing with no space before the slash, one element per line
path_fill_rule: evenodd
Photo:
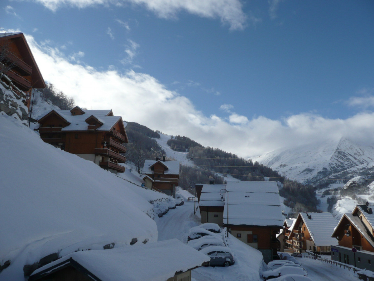
<path fill-rule="evenodd" d="M 331 213 L 300 212 L 299 216 L 303 218 L 310 236 L 317 246 L 337 244 L 337 240 L 332 238 L 331 235 L 334 232 L 338 221 L 335 220 Z"/>

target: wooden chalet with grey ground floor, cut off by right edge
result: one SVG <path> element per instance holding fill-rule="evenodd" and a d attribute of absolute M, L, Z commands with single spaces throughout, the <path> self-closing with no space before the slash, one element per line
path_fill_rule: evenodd
<path fill-rule="evenodd" d="M 331 259 L 374 271 L 374 205 L 357 205 L 341 217 L 332 237 Z M 336 245 L 338 244 L 338 245 Z M 353 250 L 355 249 L 355 250 Z"/>

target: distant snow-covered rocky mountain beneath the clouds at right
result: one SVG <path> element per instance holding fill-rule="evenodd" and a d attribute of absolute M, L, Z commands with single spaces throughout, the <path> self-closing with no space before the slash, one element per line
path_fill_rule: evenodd
<path fill-rule="evenodd" d="M 328 178 L 352 178 L 374 171 L 374 148 L 346 138 L 278 149 L 253 161 L 269 166 L 290 179 L 321 184 Z M 332 183 L 328 181 L 328 183 Z"/>

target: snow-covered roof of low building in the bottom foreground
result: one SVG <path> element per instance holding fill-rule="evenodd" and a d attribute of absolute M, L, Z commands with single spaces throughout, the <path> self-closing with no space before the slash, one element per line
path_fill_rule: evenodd
<path fill-rule="evenodd" d="M 37 269 L 32 275 L 70 258 L 102 281 L 165 281 L 177 272 L 186 272 L 210 260 L 178 239 L 171 239 L 110 250 L 78 251 Z"/>

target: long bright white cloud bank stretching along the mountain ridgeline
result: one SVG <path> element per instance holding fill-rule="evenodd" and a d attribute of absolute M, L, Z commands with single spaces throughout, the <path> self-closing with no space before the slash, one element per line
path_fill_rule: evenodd
<path fill-rule="evenodd" d="M 99 71 L 69 61 L 57 48 L 38 44 L 31 36 L 27 40 L 44 78 L 74 96 L 77 105 L 113 109 L 124 120 L 170 135 L 188 136 L 202 145 L 242 157 L 340 137 L 371 145 L 374 138 L 374 113 L 357 114 L 347 120 L 316 114 L 291 115 L 282 120 L 263 116 L 248 119 L 232 112 L 233 105 L 224 104 L 221 109 L 230 114 L 228 119 L 214 114 L 208 117 L 189 99 L 146 73 L 120 73 L 113 68 Z"/>

